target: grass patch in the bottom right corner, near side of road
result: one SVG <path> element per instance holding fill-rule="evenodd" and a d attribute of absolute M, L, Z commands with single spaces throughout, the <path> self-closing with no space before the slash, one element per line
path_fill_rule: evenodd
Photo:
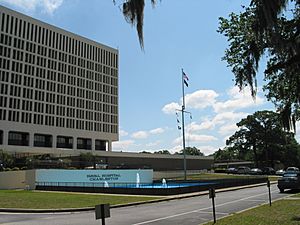
<path fill-rule="evenodd" d="M 212 222 L 206 223 L 213 224 Z M 217 220 L 217 225 L 299 225 L 300 200 L 280 200 Z"/>

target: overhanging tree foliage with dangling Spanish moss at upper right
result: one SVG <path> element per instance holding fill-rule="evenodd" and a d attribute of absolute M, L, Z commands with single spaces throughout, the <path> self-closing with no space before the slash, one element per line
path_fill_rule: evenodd
<path fill-rule="evenodd" d="M 289 6 L 291 10 L 285 11 Z M 295 129 L 300 103 L 300 1 L 252 0 L 240 14 L 220 18 L 218 32 L 229 42 L 227 61 L 240 89 L 250 86 L 256 95 L 259 62 L 267 56 L 264 71 L 268 100 L 286 129 Z"/>

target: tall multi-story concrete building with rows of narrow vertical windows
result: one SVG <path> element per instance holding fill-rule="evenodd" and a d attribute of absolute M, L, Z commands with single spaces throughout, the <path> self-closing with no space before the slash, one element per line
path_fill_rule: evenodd
<path fill-rule="evenodd" d="M 0 149 L 111 151 L 118 50 L 0 6 Z"/>

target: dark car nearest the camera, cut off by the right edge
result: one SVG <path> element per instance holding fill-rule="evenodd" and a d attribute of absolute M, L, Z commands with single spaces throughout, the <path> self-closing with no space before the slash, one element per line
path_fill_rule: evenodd
<path fill-rule="evenodd" d="M 284 189 L 300 189 L 300 173 L 295 171 L 288 171 L 278 179 L 277 187 L 282 193 Z"/>

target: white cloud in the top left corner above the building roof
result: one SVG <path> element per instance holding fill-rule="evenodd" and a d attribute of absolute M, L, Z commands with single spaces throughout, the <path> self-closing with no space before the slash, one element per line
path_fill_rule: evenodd
<path fill-rule="evenodd" d="M 37 8 L 41 8 L 46 13 L 52 14 L 62 5 L 63 0 L 0 0 L 0 2 L 9 3 L 26 11 L 35 11 Z"/>

